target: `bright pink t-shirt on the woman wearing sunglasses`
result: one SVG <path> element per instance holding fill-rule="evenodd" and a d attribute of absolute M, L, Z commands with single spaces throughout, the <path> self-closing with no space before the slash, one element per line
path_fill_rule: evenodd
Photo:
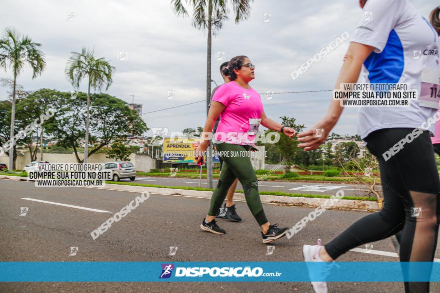
<path fill-rule="evenodd" d="M 253 89 L 245 89 L 235 81 L 220 85 L 212 101 L 226 106 L 214 139 L 231 144 L 252 145 L 263 112 L 261 97 Z M 259 121 L 258 121 L 259 120 Z"/>

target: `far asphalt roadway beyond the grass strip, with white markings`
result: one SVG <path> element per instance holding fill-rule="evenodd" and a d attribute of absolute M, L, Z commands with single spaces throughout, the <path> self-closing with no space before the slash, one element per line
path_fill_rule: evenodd
<path fill-rule="evenodd" d="M 122 179 L 121 181 L 130 181 L 129 179 Z M 207 180 L 176 177 L 140 177 L 137 176 L 132 182 L 155 184 L 165 186 L 190 186 L 190 187 L 204 187 L 207 188 Z M 217 180 L 213 180 L 213 185 L 217 184 Z M 286 193 L 299 194 L 320 194 L 320 195 L 335 195 L 340 189 L 344 191 L 345 196 L 366 196 L 365 185 L 353 185 L 341 182 L 340 184 L 332 183 L 307 183 L 307 182 L 288 182 L 288 181 L 263 181 L 258 186 L 260 191 L 280 191 Z M 241 184 L 238 182 L 237 190 L 243 190 Z M 379 190 L 381 190 L 379 188 Z"/>

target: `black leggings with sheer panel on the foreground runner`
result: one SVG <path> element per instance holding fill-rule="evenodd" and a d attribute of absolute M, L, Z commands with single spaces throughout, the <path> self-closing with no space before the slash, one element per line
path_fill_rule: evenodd
<path fill-rule="evenodd" d="M 429 133 L 424 131 L 408 141 L 387 161 L 382 156 L 412 130 L 380 129 L 364 139 L 379 162 L 383 208 L 358 220 L 325 245 L 332 259 L 402 230 L 400 261 L 433 261 L 440 224 L 440 179 Z M 429 283 L 405 283 L 405 292 L 429 292 Z"/>

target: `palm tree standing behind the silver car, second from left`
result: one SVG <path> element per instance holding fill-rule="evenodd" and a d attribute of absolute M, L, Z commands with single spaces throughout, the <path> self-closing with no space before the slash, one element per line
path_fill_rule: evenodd
<path fill-rule="evenodd" d="M 79 83 L 82 78 L 88 77 L 88 91 L 87 91 L 87 117 L 85 121 L 85 145 L 84 145 L 84 160 L 87 164 L 88 159 L 88 124 L 90 118 L 90 87 L 94 90 L 101 89 L 105 85 L 107 90 L 112 80 L 114 67 L 110 65 L 104 58 L 95 59 L 94 50 L 89 51 L 82 47 L 81 53 L 71 52 L 71 56 L 67 61 L 65 67 L 65 74 L 74 88 L 79 89 Z"/>

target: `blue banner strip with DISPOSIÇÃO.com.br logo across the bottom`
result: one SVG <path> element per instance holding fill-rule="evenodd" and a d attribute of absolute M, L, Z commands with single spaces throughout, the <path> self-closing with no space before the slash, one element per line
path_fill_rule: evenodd
<path fill-rule="evenodd" d="M 440 263 L 0 262 L 0 282 L 309 282 L 310 280 L 440 282 Z"/>

